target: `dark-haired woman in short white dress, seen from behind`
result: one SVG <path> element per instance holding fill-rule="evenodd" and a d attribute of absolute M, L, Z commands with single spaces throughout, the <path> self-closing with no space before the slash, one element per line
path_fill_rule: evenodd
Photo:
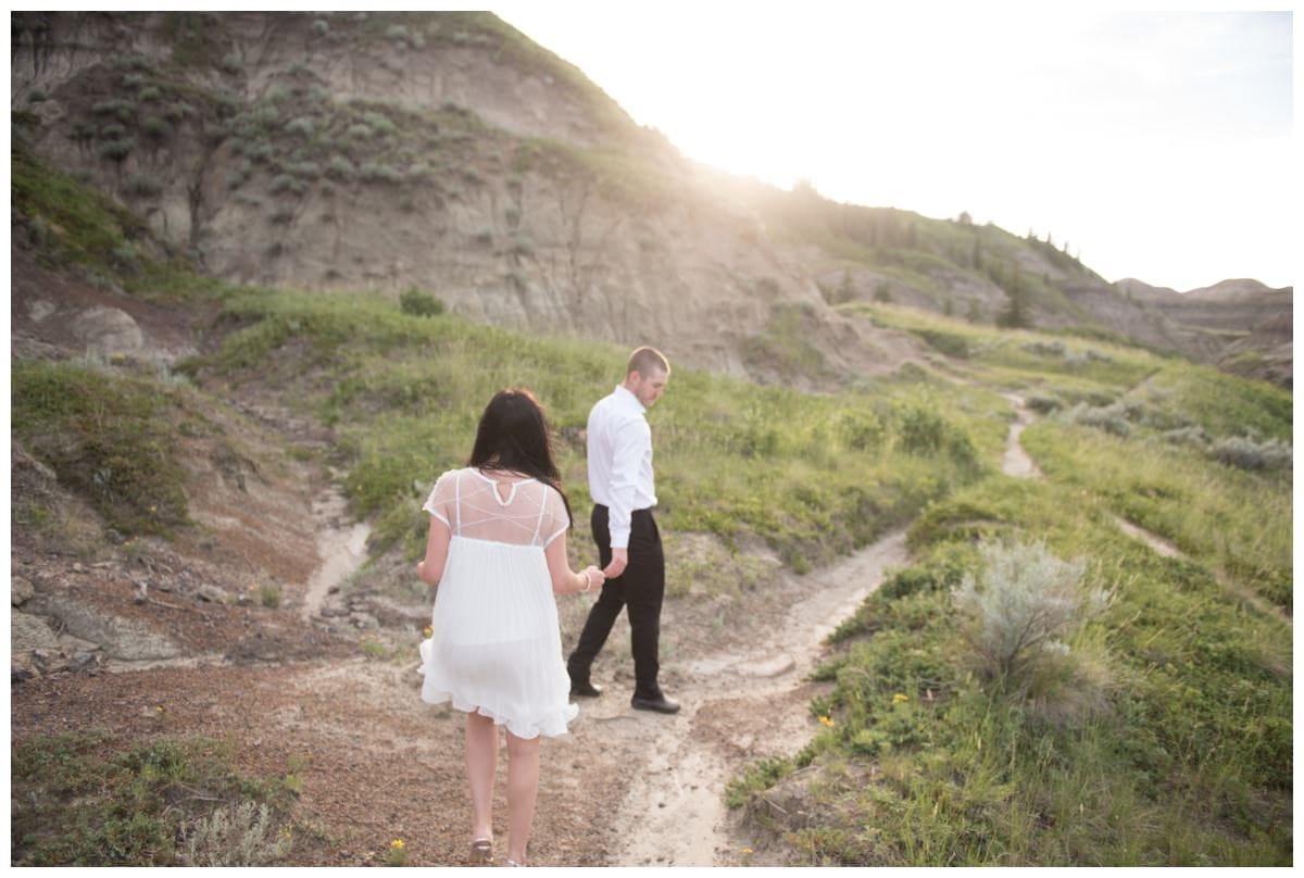
<path fill-rule="evenodd" d="M 570 702 L 553 594 L 592 591 L 601 569 L 566 557 L 570 504 L 548 424 L 528 390 L 489 401 L 471 461 L 439 476 L 417 575 L 438 584 L 433 635 L 421 644 L 421 698 L 467 714 L 472 862 L 493 858 L 498 725 L 507 728 L 507 864 L 526 861 L 539 793 L 539 738 L 566 733 Z"/>

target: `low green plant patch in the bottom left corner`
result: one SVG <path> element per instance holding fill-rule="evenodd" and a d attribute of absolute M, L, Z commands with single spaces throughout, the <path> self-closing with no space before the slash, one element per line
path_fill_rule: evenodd
<path fill-rule="evenodd" d="M 193 821 L 241 801 L 276 814 L 291 804 L 280 779 L 241 774 L 231 745 L 209 738 L 64 732 L 14 742 L 10 755 L 16 866 L 181 865 Z"/>

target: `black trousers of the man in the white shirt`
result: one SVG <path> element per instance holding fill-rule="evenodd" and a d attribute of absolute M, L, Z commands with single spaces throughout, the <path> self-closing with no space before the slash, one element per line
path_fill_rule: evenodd
<path fill-rule="evenodd" d="M 612 562 L 612 535 L 608 528 L 606 506 L 593 506 L 589 517 L 593 541 L 601 566 Z M 661 638 L 661 599 L 665 596 L 665 554 L 661 552 L 661 532 L 656 527 L 651 509 L 635 509 L 630 517 L 630 562 L 625 571 L 602 586 L 593 609 L 588 613 L 575 651 L 566 663 L 571 680 L 588 681 L 589 667 L 597 658 L 621 608 L 630 614 L 631 646 L 634 652 L 635 694 L 655 695 L 660 691 L 657 673 L 657 643 Z"/>

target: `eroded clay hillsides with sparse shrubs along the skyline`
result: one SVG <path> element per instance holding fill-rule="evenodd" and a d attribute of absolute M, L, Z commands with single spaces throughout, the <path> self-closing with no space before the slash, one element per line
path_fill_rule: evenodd
<path fill-rule="evenodd" d="M 244 283 L 420 287 L 485 322 L 806 385 L 917 355 L 840 312 L 857 300 L 1206 361 L 1260 351 L 1282 313 L 1241 301 L 1253 282 L 1183 309 L 966 215 L 690 162 L 488 13 L 13 13 L 10 68 L 20 149 Z"/>

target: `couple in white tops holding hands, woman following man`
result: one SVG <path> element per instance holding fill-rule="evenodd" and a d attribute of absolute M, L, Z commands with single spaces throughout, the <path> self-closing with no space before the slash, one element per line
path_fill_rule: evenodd
<path fill-rule="evenodd" d="M 433 635 L 421 644 L 421 698 L 467 714 L 472 862 L 493 858 L 498 732 L 507 731 L 507 865 L 523 865 L 539 792 L 539 742 L 566 733 L 597 697 L 589 668 L 622 608 L 629 609 L 631 706 L 673 714 L 657 682 L 665 560 L 652 507 L 652 432 L 644 412 L 665 393 L 670 364 L 651 347 L 630 355 L 625 381 L 588 416 L 589 517 L 602 564 L 575 573 L 566 553 L 570 502 L 550 433 L 528 390 L 502 390 L 480 419 L 468 466 L 439 476 L 417 575 L 437 584 Z M 554 594 L 599 592 L 570 659 L 562 661 Z"/>

